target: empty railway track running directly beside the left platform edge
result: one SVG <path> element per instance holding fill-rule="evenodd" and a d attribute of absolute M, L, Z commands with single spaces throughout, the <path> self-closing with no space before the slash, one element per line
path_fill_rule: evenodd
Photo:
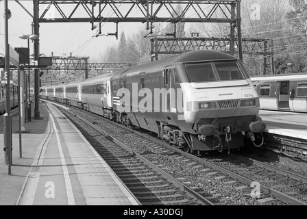
<path fill-rule="evenodd" d="M 83 130 L 82 133 L 97 153 L 142 205 L 214 205 L 93 123 L 75 114 L 66 113 L 66 116 Z M 88 126 L 86 131 L 76 120 Z"/>

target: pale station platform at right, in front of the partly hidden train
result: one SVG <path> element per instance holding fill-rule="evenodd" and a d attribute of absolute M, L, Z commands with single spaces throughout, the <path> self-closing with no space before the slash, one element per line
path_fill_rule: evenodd
<path fill-rule="evenodd" d="M 307 114 L 260 110 L 267 133 L 307 140 Z"/>

